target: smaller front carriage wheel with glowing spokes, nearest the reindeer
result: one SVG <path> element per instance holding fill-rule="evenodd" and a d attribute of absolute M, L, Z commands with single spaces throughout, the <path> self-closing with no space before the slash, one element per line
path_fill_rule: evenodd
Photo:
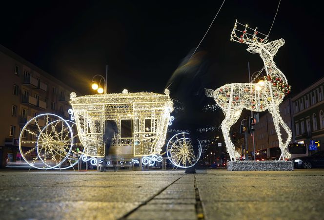
<path fill-rule="evenodd" d="M 202 146 L 199 140 L 197 142 L 199 152 L 195 155 L 189 133 L 182 132 L 174 135 L 166 146 L 166 153 L 171 163 L 182 168 L 195 165 L 202 155 Z"/>

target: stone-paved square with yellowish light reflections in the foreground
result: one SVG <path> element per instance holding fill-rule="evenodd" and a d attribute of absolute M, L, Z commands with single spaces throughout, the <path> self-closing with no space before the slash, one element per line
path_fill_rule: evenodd
<path fill-rule="evenodd" d="M 0 170 L 0 219 L 324 219 L 324 169 Z"/>

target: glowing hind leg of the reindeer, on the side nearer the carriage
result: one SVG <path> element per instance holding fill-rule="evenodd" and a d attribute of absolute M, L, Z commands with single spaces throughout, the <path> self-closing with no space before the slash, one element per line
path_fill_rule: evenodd
<path fill-rule="evenodd" d="M 239 112 L 238 112 L 239 111 Z M 227 111 L 225 114 L 225 119 L 222 122 L 221 128 L 225 140 L 225 145 L 226 145 L 226 151 L 229 153 L 231 161 L 235 161 L 236 158 L 241 157 L 241 154 L 235 150 L 234 144 L 231 142 L 229 130 L 232 127 L 232 125 L 237 122 L 241 115 L 242 109 L 239 110 L 230 110 Z"/>

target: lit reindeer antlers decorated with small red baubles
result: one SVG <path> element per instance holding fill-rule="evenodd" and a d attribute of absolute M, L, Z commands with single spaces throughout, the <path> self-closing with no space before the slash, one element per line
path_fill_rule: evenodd
<path fill-rule="evenodd" d="M 240 27 L 242 27 L 243 31 L 237 29 L 238 25 L 240 25 Z M 257 31 L 258 28 L 252 29 L 250 27 L 244 24 L 241 24 L 240 22 L 238 22 L 237 20 L 235 20 L 235 25 L 231 34 L 231 40 L 236 41 L 236 42 L 240 42 L 240 43 L 245 43 L 245 44 L 249 44 L 249 45 L 260 45 L 260 44 L 264 44 L 266 43 L 267 40 L 267 35 L 264 35 L 260 32 Z M 253 34 L 248 33 L 248 31 L 253 31 Z M 240 32 L 240 37 L 238 37 L 236 35 L 236 31 Z M 258 37 L 257 35 L 259 34 L 264 36 L 264 37 Z"/>

